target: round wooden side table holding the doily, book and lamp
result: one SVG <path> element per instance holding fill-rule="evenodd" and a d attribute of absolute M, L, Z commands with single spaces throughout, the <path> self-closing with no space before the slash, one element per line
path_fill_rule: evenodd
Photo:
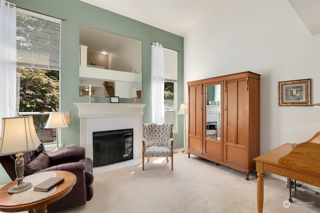
<path fill-rule="evenodd" d="M 22 212 L 33 210 L 34 213 L 46 213 L 46 206 L 51 204 L 60 198 L 64 197 L 68 194 L 74 184 L 76 183 L 76 176 L 67 171 L 52 171 L 56 173 L 56 177 L 64 178 L 64 182 L 57 186 L 56 191 L 36 202 L 32 202 L 29 204 L 11 204 L 10 199 L 12 197 L 11 194 L 7 192 L 7 190 L 15 185 L 17 181 L 12 181 L 11 183 L 0 188 L 0 211 L 2 212 Z M 33 188 L 32 188 L 33 189 Z"/>

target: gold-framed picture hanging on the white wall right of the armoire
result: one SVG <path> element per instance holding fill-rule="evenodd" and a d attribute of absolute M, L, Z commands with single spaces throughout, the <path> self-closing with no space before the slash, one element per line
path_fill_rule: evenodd
<path fill-rule="evenodd" d="M 279 106 L 311 106 L 311 78 L 278 82 Z"/>

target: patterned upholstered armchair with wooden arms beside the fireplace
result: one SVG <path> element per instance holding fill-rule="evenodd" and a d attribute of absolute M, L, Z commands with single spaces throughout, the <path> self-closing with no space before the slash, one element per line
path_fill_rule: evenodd
<path fill-rule="evenodd" d="M 173 124 L 142 124 L 142 171 L 144 171 L 144 157 L 149 162 L 150 157 L 171 157 L 171 170 L 173 170 Z"/>

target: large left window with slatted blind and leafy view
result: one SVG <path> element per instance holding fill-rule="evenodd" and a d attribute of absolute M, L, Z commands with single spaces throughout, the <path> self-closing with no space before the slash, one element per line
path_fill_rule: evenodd
<path fill-rule="evenodd" d="M 32 115 L 42 143 L 56 140 L 56 129 L 43 127 L 59 111 L 60 30 L 60 19 L 16 9 L 18 112 Z"/>

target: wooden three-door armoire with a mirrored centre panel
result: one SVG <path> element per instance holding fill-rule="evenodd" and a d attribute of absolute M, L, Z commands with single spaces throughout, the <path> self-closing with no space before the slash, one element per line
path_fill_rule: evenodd
<path fill-rule="evenodd" d="M 260 75 L 240 72 L 187 82 L 190 154 L 245 173 L 259 156 Z"/>

